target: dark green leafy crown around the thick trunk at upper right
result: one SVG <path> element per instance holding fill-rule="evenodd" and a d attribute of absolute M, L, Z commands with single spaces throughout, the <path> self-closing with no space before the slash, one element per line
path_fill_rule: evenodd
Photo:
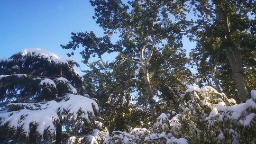
<path fill-rule="evenodd" d="M 255 81 L 251 81 L 256 75 L 254 59 L 256 56 L 256 1 L 192 0 L 191 4 L 194 6 L 193 11 L 197 12 L 195 13 L 197 18 L 194 19 L 194 27 L 191 29 L 197 46 L 192 50 L 191 56 L 195 61 L 200 62 L 197 69 L 200 77 L 198 84 L 203 84 L 203 82 L 210 84 L 211 74 L 214 74 L 220 82 L 222 90 L 229 97 L 240 100 L 237 94 L 238 88 L 235 85 L 236 80 L 232 76 L 227 56 L 229 52 L 226 49 L 232 44 L 225 34 L 221 9 L 224 9 L 226 13 L 233 42 L 241 52 L 242 74 L 247 91 L 250 91 L 255 89 L 256 85 Z M 234 48 L 232 49 L 234 50 Z"/>

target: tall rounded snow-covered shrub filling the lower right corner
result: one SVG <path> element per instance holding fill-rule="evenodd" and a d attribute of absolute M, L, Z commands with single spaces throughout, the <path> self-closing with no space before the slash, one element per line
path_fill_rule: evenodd
<path fill-rule="evenodd" d="M 182 95 L 177 115 L 170 125 L 175 137 L 190 143 L 250 143 L 256 140 L 256 103 L 248 99 L 236 104 L 209 86 L 192 87 Z"/>

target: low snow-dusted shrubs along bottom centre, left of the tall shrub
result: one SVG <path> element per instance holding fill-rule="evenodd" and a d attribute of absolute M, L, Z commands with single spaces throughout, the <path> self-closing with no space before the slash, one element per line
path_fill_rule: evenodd
<path fill-rule="evenodd" d="M 161 114 L 151 132 L 146 128 L 134 128 L 127 132 L 114 131 L 103 144 L 187 144 L 184 138 L 175 138 L 170 132 L 168 117 Z"/>

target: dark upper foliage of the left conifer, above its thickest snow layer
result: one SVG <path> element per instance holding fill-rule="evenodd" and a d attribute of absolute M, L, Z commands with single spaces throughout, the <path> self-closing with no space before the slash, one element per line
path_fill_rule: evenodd
<path fill-rule="evenodd" d="M 64 77 L 76 87 L 78 93 L 84 94 L 81 77 L 74 71 L 73 61 L 57 63 L 41 55 L 22 55 L 17 53 L 8 60 L 0 61 L 0 99 L 49 100 L 55 99 L 69 90 L 68 83 L 57 83 L 57 87 L 40 82 L 44 79 Z M 6 76 L 4 76 L 6 75 Z"/>

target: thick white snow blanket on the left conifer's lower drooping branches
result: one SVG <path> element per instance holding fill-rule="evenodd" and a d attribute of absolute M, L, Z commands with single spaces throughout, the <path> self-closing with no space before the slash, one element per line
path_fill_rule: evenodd
<path fill-rule="evenodd" d="M 0 123 L 1 126 L 9 122 L 9 127 L 22 127 L 25 134 L 28 136 L 29 124 L 38 124 L 37 132 L 43 134 L 44 130 L 49 127 L 51 133 L 55 133 L 54 122 L 59 120 L 59 115 L 66 115 L 64 113 L 68 112 L 69 118 L 85 118 L 87 121 L 89 119 L 89 113 L 94 115 L 93 107 L 98 111 L 97 103 L 89 98 L 67 94 L 64 96 L 65 99 L 60 102 L 51 100 L 48 102 L 39 103 L 10 103 L 9 105 L 23 106 L 24 109 L 18 111 L 0 111 Z M 29 108 L 29 109 L 27 109 Z M 78 113 L 82 112 L 78 117 Z"/>

